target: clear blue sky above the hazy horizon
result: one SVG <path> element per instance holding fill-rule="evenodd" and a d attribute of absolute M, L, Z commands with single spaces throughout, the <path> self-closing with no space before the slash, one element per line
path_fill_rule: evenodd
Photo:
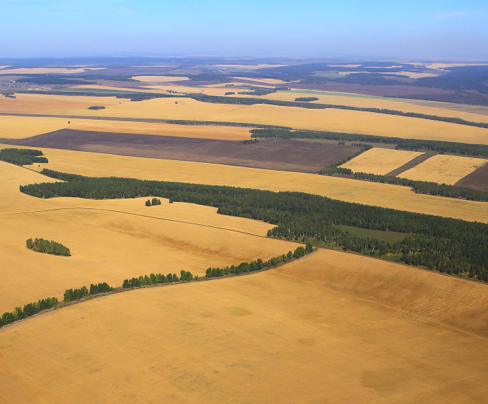
<path fill-rule="evenodd" d="M 488 1 L 0 0 L 0 56 L 488 60 Z"/>

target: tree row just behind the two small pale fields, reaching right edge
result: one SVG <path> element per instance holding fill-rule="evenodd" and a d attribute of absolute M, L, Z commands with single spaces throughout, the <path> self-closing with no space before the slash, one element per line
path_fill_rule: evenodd
<path fill-rule="evenodd" d="M 457 143 L 454 141 L 402 139 L 399 137 L 376 136 L 344 132 L 315 132 L 308 130 L 252 129 L 254 138 L 280 139 L 326 139 L 339 141 L 367 141 L 369 143 L 396 144 L 397 150 L 434 150 L 461 155 L 488 156 L 488 146 L 484 144 Z"/>

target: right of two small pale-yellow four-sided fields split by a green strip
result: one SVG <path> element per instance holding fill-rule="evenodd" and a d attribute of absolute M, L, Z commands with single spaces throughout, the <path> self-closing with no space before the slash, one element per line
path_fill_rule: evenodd
<path fill-rule="evenodd" d="M 399 177 L 417 181 L 431 181 L 455 185 L 461 178 L 475 171 L 488 160 L 474 157 L 435 155 L 403 173 Z"/>

